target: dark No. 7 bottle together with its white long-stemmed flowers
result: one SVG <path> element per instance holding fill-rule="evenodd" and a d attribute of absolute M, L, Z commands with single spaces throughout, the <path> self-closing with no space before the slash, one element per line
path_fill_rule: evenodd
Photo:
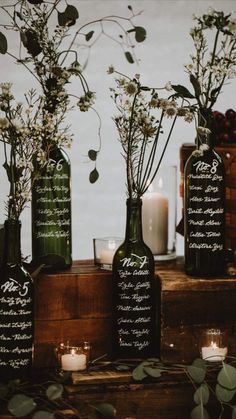
<path fill-rule="evenodd" d="M 142 195 L 158 172 L 177 116 L 186 117 L 188 110 L 171 97 L 160 97 L 158 89 L 142 86 L 138 75 L 129 79 L 115 73 L 119 77 L 111 92 L 119 115 L 114 122 L 126 162 L 128 198 L 125 240 L 113 259 L 113 356 L 144 358 L 160 351 L 160 294 L 153 254 L 143 240 Z M 166 117 L 172 122 L 163 143 Z"/>

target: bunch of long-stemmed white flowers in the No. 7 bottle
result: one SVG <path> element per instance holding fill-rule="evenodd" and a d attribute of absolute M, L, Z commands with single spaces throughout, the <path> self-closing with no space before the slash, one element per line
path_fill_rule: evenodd
<path fill-rule="evenodd" d="M 176 97 L 159 95 L 159 90 L 170 90 L 170 82 L 163 88 L 152 88 L 143 86 L 139 75 L 131 79 L 112 66 L 108 73 L 119 75 L 115 79 L 116 88 L 110 91 L 119 112 L 113 120 L 126 161 L 128 196 L 141 197 L 158 172 L 177 117 L 191 122 L 194 115 L 191 107 L 184 106 L 184 100 L 178 105 Z M 169 128 L 161 141 L 165 121 Z"/>

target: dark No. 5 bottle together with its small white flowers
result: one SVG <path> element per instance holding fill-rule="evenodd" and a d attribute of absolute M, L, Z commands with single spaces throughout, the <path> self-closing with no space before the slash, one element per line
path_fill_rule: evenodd
<path fill-rule="evenodd" d="M 11 85 L 1 84 L 0 141 L 10 185 L 0 267 L 0 376 L 3 381 L 28 376 L 33 361 L 34 287 L 22 263 L 20 222 L 30 197 L 33 173 L 30 161 L 36 146 L 30 105 L 33 96 L 33 92 L 27 95 L 29 108 L 24 112 L 23 105 L 14 101 Z"/>

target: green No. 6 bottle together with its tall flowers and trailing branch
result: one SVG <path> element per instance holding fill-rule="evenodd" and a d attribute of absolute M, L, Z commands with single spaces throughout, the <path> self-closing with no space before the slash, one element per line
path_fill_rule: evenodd
<path fill-rule="evenodd" d="M 34 167 L 38 177 L 32 184 L 33 262 L 50 270 L 68 268 L 72 262 L 71 172 L 65 148 L 71 143 L 71 134 L 65 117 L 75 106 L 81 112 L 93 109 L 95 94 L 89 89 L 83 70 L 92 46 L 101 36 L 116 40 L 109 35 L 106 26 L 112 23 L 119 27 L 121 33 L 117 35 L 117 43 L 129 63 L 136 60 L 134 41 L 144 41 L 146 31 L 134 24 L 137 14 L 131 6 L 128 6 L 129 17 L 106 16 L 76 29 L 78 9 L 64 0 L 21 0 L 9 6 L 0 6 L 0 10 L 8 20 L 10 17 L 5 25 L 7 31 L 19 32 L 21 41 L 19 57 L 14 57 L 14 54 L 8 53 L 7 39 L 0 32 L 0 53 L 14 57 L 40 86 L 40 100 L 36 105 L 37 118 L 42 124 L 38 137 L 41 152 L 35 154 Z M 84 63 L 78 59 L 81 39 L 83 50 L 87 47 L 88 52 Z M 73 78 L 79 82 L 78 91 L 82 90 L 82 93 L 77 94 L 77 87 L 70 91 L 69 84 Z M 74 106 L 71 106 L 70 99 L 75 99 Z M 100 136 L 100 118 L 98 126 Z M 98 149 L 88 152 L 88 158 L 94 165 L 89 176 L 91 183 L 96 182 L 99 176 L 96 160 L 100 147 L 99 138 Z"/>

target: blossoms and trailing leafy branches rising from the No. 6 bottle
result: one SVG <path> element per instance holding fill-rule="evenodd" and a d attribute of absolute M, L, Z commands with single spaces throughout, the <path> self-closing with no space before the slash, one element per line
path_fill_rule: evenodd
<path fill-rule="evenodd" d="M 18 64 L 22 64 L 39 83 L 40 95 L 44 96 L 44 126 L 47 125 L 50 114 L 60 116 L 71 109 L 69 103 L 72 97 L 76 98 L 75 105 L 81 112 L 92 109 L 95 93 L 90 90 L 83 71 L 91 49 L 101 37 L 110 38 L 118 44 L 129 63 L 138 62 L 135 43 L 143 42 L 146 38 L 146 30 L 134 23 L 140 13 L 134 13 L 131 6 L 128 6 L 129 17 L 105 16 L 85 23 L 78 29 L 75 26 L 79 20 L 79 11 L 74 5 L 68 4 L 67 0 L 16 0 L 13 4 L 0 6 L 0 10 L 9 19 L 9 23 L 2 23 L 0 27 L 5 29 L 5 32 L 12 30 L 20 34 L 19 56 L 9 51 L 3 32 L 0 32 L 0 53 L 8 54 Z M 110 34 L 111 25 L 114 29 L 113 35 Z M 84 50 L 88 50 L 83 63 L 78 58 L 79 49 L 83 49 L 83 55 Z M 74 77 L 78 80 L 76 94 L 74 90 L 72 94 L 69 89 Z M 60 125 L 61 118 L 58 117 L 57 121 Z M 96 159 L 101 148 L 100 125 L 98 134 L 98 149 L 88 152 L 90 161 L 95 162 L 95 171 Z M 51 146 L 51 138 L 53 137 L 44 138 L 45 149 Z M 53 143 L 56 144 L 55 138 Z M 65 147 L 67 141 L 62 144 L 60 140 L 60 145 Z M 92 182 L 97 178 L 94 176 L 95 171 L 90 174 Z"/>

